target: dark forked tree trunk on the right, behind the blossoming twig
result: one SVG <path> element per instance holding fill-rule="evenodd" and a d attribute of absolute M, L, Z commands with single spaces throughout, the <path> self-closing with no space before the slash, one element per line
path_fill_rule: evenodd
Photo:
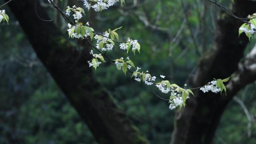
<path fill-rule="evenodd" d="M 254 13 L 255 8 L 255 1 L 235 0 L 233 12 L 245 18 Z M 213 78 L 227 78 L 237 71 L 227 86 L 227 96 L 194 90 L 196 98 L 189 99 L 186 108 L 175 114 L 172 144 L 210 144 L 229 101 L 238 90 L 256 79 L 255 71 L 238 69 L 238 62 L 248 43 L 246 36 L 238 37 L 241 23 L 240 20 L 222 13 L 217 21 L 214 46 L 203 54 L 196 72 L 188 79 L 193 88 L 202 86 Z"/>

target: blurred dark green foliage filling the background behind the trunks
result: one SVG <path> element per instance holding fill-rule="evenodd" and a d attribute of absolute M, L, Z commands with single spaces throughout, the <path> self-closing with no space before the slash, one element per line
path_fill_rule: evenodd
<path fill-rule="evenodd" d="M 65 6 L 65 3 L 61 4 L 62 8 Z M 140 42 L 141 54 L 129 55 L 137 66 L 149 70 L 152 76 L 162 74 L 170 81 L 183 85 L 199 59 L 196 48 L 202 52 L 202 46 L 194 45 L 189 27 L 197 45 L 201 45 L 199 15 L 203 9 L 200 0 L 187 0 L 184 6 L 183 9 L 180 0 L 141 0 L 134 7 L 133 0 L 126 0 L 125 8 L 91 14 L 95 18 L 91 26 L 102 32 L 123 26 L 118 30 L 121 40 L 131 37 Z M 218 12 L 210 14 L 218 11 L 216 7 L 208 5 L 208 8 L 208 17 L 205 18 L 206 49 L 212 45 L 215 27 L 212 20 L 218 15 Z M 46 9 L 54 17 L 54 11 Z M 7 10 L 9 26 L 0 24 L 0 144 L 97 144 L 88 127 L 37 59 L 18 21 Z M 189 16 L 187 20 L 183 10 Z M 66 23 L 59 23 L 65 33 Z M 108 54 L 113 58 L 117 55 L 126 57 L 125 52 L 118 49 Z M 166 101 L 155 97 L 148 87 L 125 76 L 110 63 L 102 64 L 95 76 L 152 144 L 170 143 L 174 110 L 168 109 Z M 250 84 L 237 95 L 254 118 L 255 88 L 255 83 Z M 214 143 L 255 144 L 255 122 L 250 128 L 250 137 L 247 135 L 247 124 L 244 110 L 232 101 L 220 121 Z"/>

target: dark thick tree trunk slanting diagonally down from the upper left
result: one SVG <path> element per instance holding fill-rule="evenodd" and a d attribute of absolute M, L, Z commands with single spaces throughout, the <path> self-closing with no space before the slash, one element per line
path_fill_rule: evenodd
<path fill-rule="evenodd" d="M 8 0 L 6 0 L 8 1 Z M 82 53 L 58 31 L 53 22 L 40 20 L 35 13 L 35 0 L 14 0 L 9 3 L 38 58 L 51 73 L 78 114 L 100 144 L 147 144 L 110 95 L 95 81 L 87 61 L 90 47 Z M 50 19 L 37 5 L 41 18 Z"/>

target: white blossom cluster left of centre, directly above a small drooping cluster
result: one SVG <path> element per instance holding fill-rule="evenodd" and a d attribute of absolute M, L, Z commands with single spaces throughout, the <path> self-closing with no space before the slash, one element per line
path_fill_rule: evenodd
<path fill-rule="evenodd" d="M 108 44 L 108 41 L 111 41 L 108 37 L 110 33 L 105 32 L 103 36 L 95 35 L 94 38 L 97 40 L 96 48 L 100 49 L 100 42 L 105 45 L 105 47 L 101 48 L 101 51 L 111 51 L 113 50 L 114 44 Z"/>

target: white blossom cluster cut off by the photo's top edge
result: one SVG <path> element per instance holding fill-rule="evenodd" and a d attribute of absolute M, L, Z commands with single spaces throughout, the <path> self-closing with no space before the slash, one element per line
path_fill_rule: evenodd
<path fill-rule="evenodd" d="M 118 2 L 118 0 L 97 0 L 97 2 L 93 2 L 91 0 L 83 0 L 83 5 L 88 10 L 92 8 L 95 11 L 101 11 L 113 6 L 116 2 Z"/>

